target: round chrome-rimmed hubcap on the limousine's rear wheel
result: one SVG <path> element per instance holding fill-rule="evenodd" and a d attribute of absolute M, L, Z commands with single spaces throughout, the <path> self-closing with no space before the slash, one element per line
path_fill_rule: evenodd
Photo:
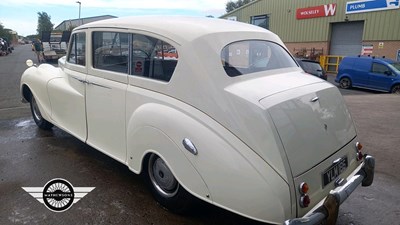
<path fill-rule="evenodd" d="M 176 195 L 179 183 L 164 160 L 156 155 L 151 155 L 148 171 L 151 183 L 161 195 L 165 197 Z"/>

